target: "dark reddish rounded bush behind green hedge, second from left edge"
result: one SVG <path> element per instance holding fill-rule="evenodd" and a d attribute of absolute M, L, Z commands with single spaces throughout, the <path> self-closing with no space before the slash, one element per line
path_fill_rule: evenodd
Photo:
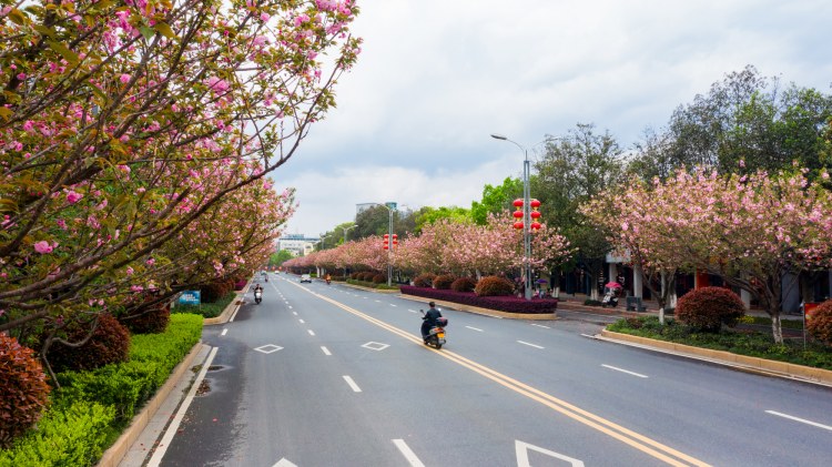
<path fill-rule="evenodd" d="M 64 339 L 70 343 L 83 341 L 90 333 L 90 325 L 72 323 L 64 329 Z M 80 347 L 70 347 L 55 342 L 47 354 L 49 364 L 55 372 L 68 369 L 94 369 L 101 366 L 124 362 L 130 351 L 130 333 L 110 314 L 102 314 L 92 337 Z"/>

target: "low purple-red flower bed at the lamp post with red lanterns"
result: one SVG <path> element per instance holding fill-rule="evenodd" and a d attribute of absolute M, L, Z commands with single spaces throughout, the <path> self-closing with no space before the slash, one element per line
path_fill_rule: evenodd
<path fill-rule="evenodd" d="M 454 302 L 463 305 L 478 306 L 480 308 L 496 309 L 506 313 L 530 313 L 544 314 L 555 313 L 558 307 L 557 298 L 534 298 L 527 301 L 516 296 L 477 296 L 474 292 L 440 291 L 430 287 L 415 287 L 403 285 L 403 294 L 415 295 L 425 298 L 435 298 L 444 302 Z"/>

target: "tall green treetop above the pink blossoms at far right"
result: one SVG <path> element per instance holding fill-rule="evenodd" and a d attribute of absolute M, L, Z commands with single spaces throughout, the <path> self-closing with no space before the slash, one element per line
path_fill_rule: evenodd
<path fill-rule="evenodd" d="M 830 115 L 832 97 L 793 83 L 781 89 L 777 78 L 748 65 L 673 112 L 664 158 L 677 167 L 706 165 L 721 173 L 741 165 L 748 173 L 777 172 L 797 161 L 818 173 Z"/>

